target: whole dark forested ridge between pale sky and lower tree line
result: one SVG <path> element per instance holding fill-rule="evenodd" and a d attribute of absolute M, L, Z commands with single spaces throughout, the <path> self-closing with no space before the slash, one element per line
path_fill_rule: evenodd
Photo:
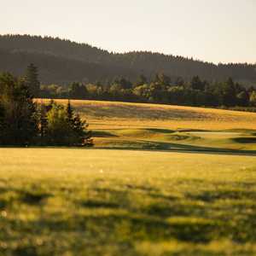
<path fill-rule="evenodd" d="M 201 79 L 209 81 L 232 77 L 246 84 L 256 83 L 256 65 L 214 65 L 181 56 L 143 51 L 114 54 L 89 44 L 77 44 L 60 38 L 0 36 L 0 72 L 9 71 L 19 75 L 31 62 L 38 66 L 43 83 L 106 81 L 116 76 L 135 80 L 139 74 L 153 77 L 155 73 L 183 79 L 199 75 Z"/>

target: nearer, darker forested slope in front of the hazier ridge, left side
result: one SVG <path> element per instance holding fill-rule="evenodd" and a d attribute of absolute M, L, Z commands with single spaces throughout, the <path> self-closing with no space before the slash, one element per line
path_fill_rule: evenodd
<path fill-rule="evenodd" d="M 131 78 L 137 76 L 137 73 L 128 68 L 113 68 L 35 51 L 0 48 L 0 73 L 9 72 L 20 76 L 30 63 L 39 68 L 39 80 L 43 84 L 106 81 L 113 79 L 116 74 Z"/>

